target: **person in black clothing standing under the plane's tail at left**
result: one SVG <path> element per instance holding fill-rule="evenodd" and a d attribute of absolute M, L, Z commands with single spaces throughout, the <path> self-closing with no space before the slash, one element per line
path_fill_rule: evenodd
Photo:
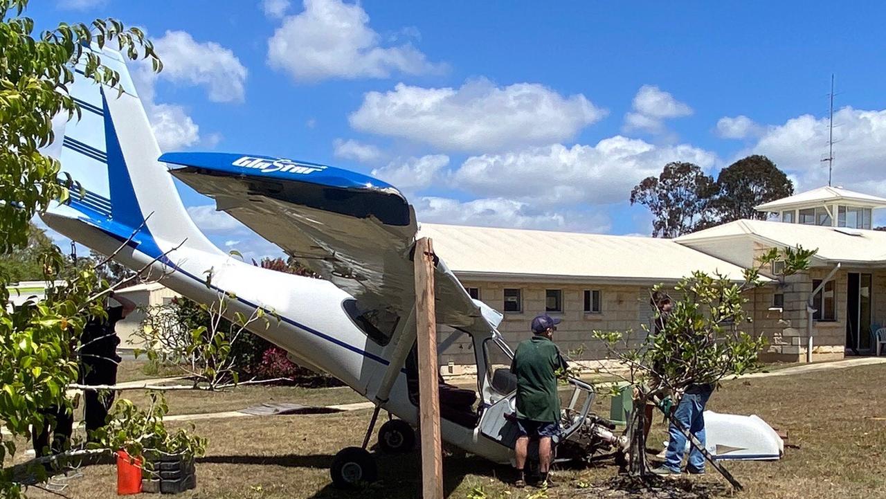
<path fill-rule="evenodd" d="M 80 349 L 80 374 L 83 385 L 114 385 L 117 382 L 117 365 L 120 355 L 117 346 L 120 338 L 114 330 L 118 321 L 125 319 L 136 304 L 114 292 L 111 298 L 120 303 L 118 307 L 106 307 L 107 318 L 90 317 L 83 327 Z M 114 394 L 108 390 L 85 390 L 83 394 L 83 422 L 87 441 L 93 441 L 92 433 L 105 425 Z"/>

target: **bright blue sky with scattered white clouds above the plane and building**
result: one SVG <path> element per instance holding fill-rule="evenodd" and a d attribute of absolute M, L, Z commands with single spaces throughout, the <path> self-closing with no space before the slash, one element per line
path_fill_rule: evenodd
<path fill-rule="evenodd" d="M 631 187 L 670 160 L 716 174 L 748 153 L 798 190 L 886 195 L 886 6 L 802 3 L 43 0 L 39 27 L 144 27 L 134 68 L 167 151 L 253 152 L 373 173 L 420 221 L 651 230 Z M 193 192 L 221 245 L 260 242 Z"/>

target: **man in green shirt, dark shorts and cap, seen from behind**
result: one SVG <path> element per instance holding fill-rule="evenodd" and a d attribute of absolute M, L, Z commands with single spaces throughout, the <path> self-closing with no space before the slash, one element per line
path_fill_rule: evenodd
<path fill-rule="evenodd" d="M 552 340 L 559 323 L 560 319 L 547 314 L 532 319 L 532 339 L 517 346 L 510 366 L 517 376 L 517 487 L 526 486 L 524 467 L 530 438 L 539 439 L 540 484 L 552 486 L 548 480 L 551 437 L 560 433 L 557 375 L 566 370 L 563 356 Z"/>

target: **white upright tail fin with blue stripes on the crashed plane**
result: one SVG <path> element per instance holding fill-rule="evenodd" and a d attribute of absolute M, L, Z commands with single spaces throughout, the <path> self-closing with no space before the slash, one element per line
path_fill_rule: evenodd
<path fill-rule="evenodd" d="M 99 55 L 105 66 L 120 74 L 119 90 L 89 81 L 78 67 L 69 91 L 82 116 L 64 123 L 64 134 L 57 130 L 51 147 L 62 171 L 82 189 L 74 189 L 70 201 L 51 214 L 77 218 L 116 237 L 128 238 L 139 231 L 152 239 L 152 246 L 160 240 L 171 244 L 187 240 L 188 246 L 218 251 L 191 221 L 172 175 L 158 161 L 159 144 L 125 59 L 108 49 Z M 51 218 L 46 222 L 52 227 Z M 65 235 L 78 240 L 76 234 Z"/>

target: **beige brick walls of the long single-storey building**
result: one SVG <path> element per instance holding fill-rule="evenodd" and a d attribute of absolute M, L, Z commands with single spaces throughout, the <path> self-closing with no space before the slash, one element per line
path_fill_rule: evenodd
<path fill-rule="evenodd" d="M 758 246 L 755 251 L 761 253 L 765 248 Z M 826 277 L 830 269 L 810 269 L 784 279 L 781 284 L 766 285 L 747 294 L 746 305 L 753 319 L 744 331 L 751 334 L 763 334 L 769 346 L 763 353 L 766 360 L 803 361 L 806 355 L 806 302 L 812 292 L 812 279 Z M 852 271 L 873 273 L 873 317 L 874 324 L 886 326 L 886 270 L 871 272 L 865 269 L 841 269 L 836 279 L 836 321 L 813 324 L 814 360 L 824 360 L 843 356 L 846 338 L 846 287 L 847 273 Z M 563 319 L 556 332 L 556 342 L 563 351 L 584 349 L 576 360 L 596 360 L 605 357 L 605 349 L 599 341 L 592 338 L 592 331 L 628 331 L 633 330 L 634 339 L 642 339 L 646 332 L 641 329 L 641 319 L 648 317 L 649 287 L 641 285 L 587 285 L 575 284 L 537 284 L 519 282 L 488 282 L 464 281 L 467 287 L 477 287 L 480 299 L 496 310 L 504 308 L 504 289 L 517 288 L 523 294 L 523 312 L 506 313 L 499 330 L 512 347 L 523 339 L 532 336 L 530 322 L 532 317 L 545 311 L 545 290 L 563 290 L 563 312 L 550 312 L 551 316 Z M 600 290 L 602 293 L 602 311 L 599 314 L 584 312 L 584 291 Z M 778 311 L 773 308 L 773 295 L 784 294 L 784 308 Z M 641 299 L 641 297 L 643 297 Z M 440 340 L 447 338 L 448 328 L 442 328 Z M 462 337 L 440 354 L 441 365 L 449 362 L 455 364 L 472 364 L 475 362 L 473 347 Z"/>

